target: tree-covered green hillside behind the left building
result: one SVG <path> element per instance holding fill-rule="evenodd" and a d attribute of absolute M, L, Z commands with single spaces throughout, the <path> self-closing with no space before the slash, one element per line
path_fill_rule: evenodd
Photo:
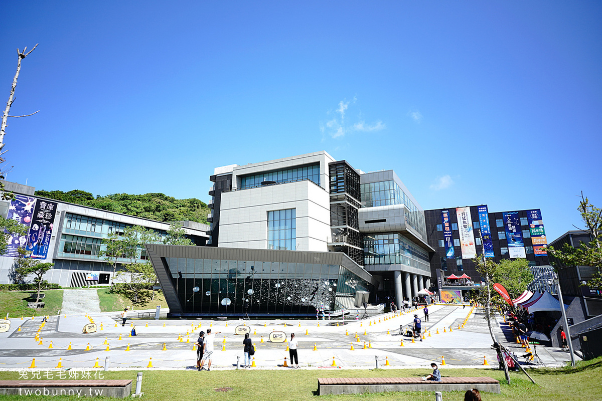
<path fill-rule="evenodd" d="M 196 199 L 176 199 L 164 194 L 111 194 L 94 195 L 90 192 L 36 191 L 39 197 L 96 207 L 109 212 L 124 213 L 158 221 L 190 220 L 207 224 L 207 205 Z"/>

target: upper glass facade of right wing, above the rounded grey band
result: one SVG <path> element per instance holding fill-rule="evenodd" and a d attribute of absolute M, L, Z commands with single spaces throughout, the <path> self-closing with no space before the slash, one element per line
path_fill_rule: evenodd
<path fill-rule="evenodd" d="M 410 200 L 408 195 L 393 180 L 371 182 L 361 185 L 362 205 L 365 207 L 403 204 L 406 206 L 406 223 L 426 237 L 424 213 Z"/>

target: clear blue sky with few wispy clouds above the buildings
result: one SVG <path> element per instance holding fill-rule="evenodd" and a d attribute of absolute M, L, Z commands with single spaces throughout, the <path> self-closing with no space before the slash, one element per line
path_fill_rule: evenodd
<path fill-rule="evenodd" d="M 4 4 L 8 180 L 208 201 L 213 168 L 326 150 L 424 209 L 602 206 L 600 2 Z M 4 98 L 2 98 L 4 96 Z"/>

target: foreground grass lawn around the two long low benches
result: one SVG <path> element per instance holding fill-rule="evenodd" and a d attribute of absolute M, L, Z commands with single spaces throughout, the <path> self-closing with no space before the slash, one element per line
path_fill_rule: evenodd
<path fill-rule="evenodd" d="M 135 388 L 136 370 L 103 372 L 105 379 L 132 379 Z M 498 370 L 454 369 L 445 370 L 443 376 L 489 376 L 500 380 L 501 394 L 484 393 L 483 400 L 598 400 L 602 399 L 602 388 L 598 379 L 602 377 L 602 358 L 580 362 L 575 369 L 529 370 L 537 385 L 523 373 L 511 373 L 512 384 L 504 384 L 504 374 Z M 146 400 L 219 399 L 238 400 L 318 400 L 315 395 L 317 379 L 323 377 L 408 377 L 424 376 L 424 369 L 414 370 L 216 370 L 211 372 L 181 370 L 144 371 L 142 391 Z M 0 372 L 2 380 L 16 380 L 18 372 Z M 42 377 L 43 379 L 43 377 Z M 54 378 L 56 379 L 56 377 Z M 222 393 L 216 388 L 231 387 Z M 17 400 L 22 396 L 0 396 L 0 399 Z M 73 399 L 76 397 L 61 397 Z M 319 400 L 433 400 L 430 392 L 375 393 L 344 396 L 321 396 Z M 464 393 L 445 392 L 444 400 L 463 400 Z"/>

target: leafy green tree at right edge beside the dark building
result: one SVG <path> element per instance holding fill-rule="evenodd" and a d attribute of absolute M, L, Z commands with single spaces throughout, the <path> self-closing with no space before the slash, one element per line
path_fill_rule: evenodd
<path fill-rule="evenodd" d="M 561 249 L 548 246 L 547 251 L 551 256 L 553 265 L 558 265 L 557 262 L 560 262 L 565 266 L 592 266 L 597 268 L 598 271 L 595 272 L 586 285 L 592 289 L 602 289 L 602 209 L 589 203 L 589 199 L 584 197 L 583 192 L 581 192 L 581 201 L 579 201 L 577 210 L 581 213 L 585 224 L 583 231 L 589 233 L 591 238 L 589 243 L 582 242 L 578 248 L 573 248 L 573 246 L 566 243 Z M 581 228 L 579 229 L 581 230 Z M 554 259 L 557 262 L 554 262 Z"/>

